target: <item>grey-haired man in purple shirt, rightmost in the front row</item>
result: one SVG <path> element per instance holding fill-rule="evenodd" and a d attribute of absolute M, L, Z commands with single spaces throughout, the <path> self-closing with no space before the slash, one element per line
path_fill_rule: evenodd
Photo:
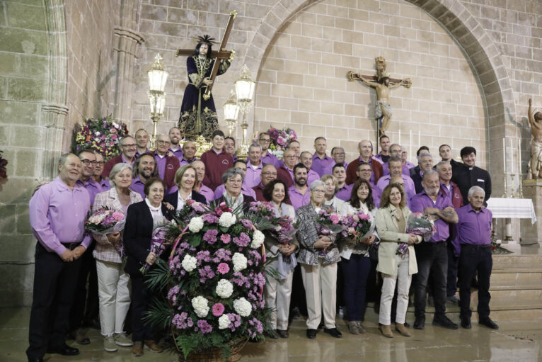
<path fill-rule="evenodd" d="M 478 277 L 478 323 L 491 329 L 499 326 L 490 319 L 490 276 L 492 213 L 483 207 L 485 191 L 480 186 L 468 190 L 468 204 L 457 210 L 454 247 L 459 254 L 459 300 L 461 327 L 471 329 L 471 282 Z"/>

